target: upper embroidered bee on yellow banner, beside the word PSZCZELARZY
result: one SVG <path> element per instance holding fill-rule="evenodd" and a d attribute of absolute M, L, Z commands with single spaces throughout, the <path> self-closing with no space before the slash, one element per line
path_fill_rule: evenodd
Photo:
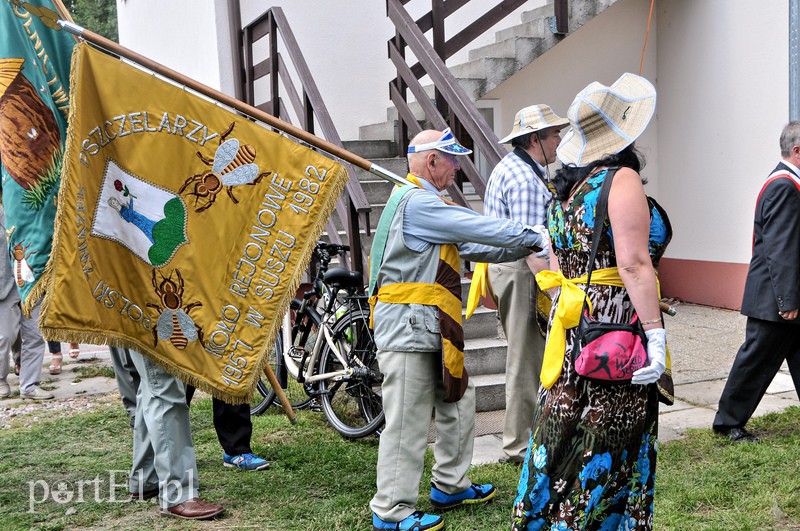
<path fill-rule="evenodd" d="M 231 201 L 238 204 L 239 201 L 233 195 L 234 186 L 258 184 L 261 179 L 272 173 L 270 171 L 259 173 L 258 165 L 253 163 L 256 160 L 256 148 L 249 144 L 241 145 L 235 138 L 225 140 L 233 132 L 235 125 L 231 123 L 220 137 L 220 144 L 214 153 L 213 161 L 197 152 L 200 160 L 211 166 L 211 169 L 189 177 L 178 190 L 178 193 L 182 194 L 190 185 L 194 185 L 187 195 L 195 196 L 195 212 L 202 212 L 213 205 L 217 194 L 223 188 Z M 198 203 L 201 203 L 199 207 Z"/>

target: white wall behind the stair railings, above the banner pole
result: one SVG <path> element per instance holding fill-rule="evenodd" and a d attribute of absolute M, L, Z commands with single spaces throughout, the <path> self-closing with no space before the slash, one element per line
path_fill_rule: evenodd
<path fill-rule="evenodd" d="M 474 45 L 494 42 L 494 31 L 519 24 L 523 11 L 544 1 L 530 0 Z M 224 0 L 117 0 L 120 44 L 233 95 L 226 5 Z M 357 139 L 359 126 L 385 121 L 389 81 L 395 77 L 386 48 L 394 28 L 385 2 L 241 0 L 242 22 L 271 6 L 283 9 L 341 138 Z M 417 18 L 431 2 L 412 0 L 406 7 Z M 448 37 L 487 8 L 484 2 L 464 6 L 448 19 Z M 465 50 L 448 63 L 466 60 Z"/>

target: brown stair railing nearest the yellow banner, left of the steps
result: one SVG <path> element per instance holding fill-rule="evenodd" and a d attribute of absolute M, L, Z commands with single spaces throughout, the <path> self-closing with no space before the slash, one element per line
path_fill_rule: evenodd
<path fill-rule="evenodd" d="M 242 27 L 241 38 L 241 64 L 245 65 L 242 80 L 244 101 L 288 123 L 292 123 L 290 111 L 293 111 L 302 129 L 322 136 L 328 142 L 341 147 L 342 141 L 339 133 L 333 125 L 283 10 L 280 7 L 268 9 L 261 16 Z M 284 54 L 279 51 L 279 38 L 284 46 L 289 66 L 299 78 L 299 89 L 295 87 L 294 79 L 284 60 Z M 267 58 L 254 64 L 255 47 L 263 40 L 267 42 Z M 256 82 L 264 79 L 268 81 L 269 94 L 267 98 L 260 98 L 262 103 L 257 103 Z M 284 98 L 290 107 L 287 107 Z M 317 125 L 319 133 L 315 132 Z M 367 235 L 370 233 L 369 213 L 371 207 L 358 180 L 355 168 L 349 162 L 341 162 L 350 175 L 350 179 L 345 187 L 345 193 L 337 200 L 336 208 L 327 222 L 326 230 L 332 242 L 346 243 L 350 246 L 348 257 L 350 268 L 364 273 L 367 253 L 361 244 L 360 231 L 363 228 Z M 334 224 L 334 217 L 344 227 L 347 242 L 343 242 L 339 236 Z"/>

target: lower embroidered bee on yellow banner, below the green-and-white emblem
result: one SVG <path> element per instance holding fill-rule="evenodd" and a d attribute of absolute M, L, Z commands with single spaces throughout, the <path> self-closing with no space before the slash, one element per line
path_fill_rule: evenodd
<path fill-rule="evenodd" d="M 161 275 L 161 283 L 159 283 L 156 279 L 156 270 L 153 269 L 153 289 L 164 307 L 151 302 L 148 302 L 147 306 L 159 312 L 156 326 L 153 327 L 153 346 L 158 345 L 159 339 L 169 340 L 175 348 L 183 350 L 189 341 L 203 342 L 203 329 L 197 326 L 189 316 L 192 308 L 203 304 L 193 302 L 183 306 L 183 277 L 179 270 L 174 269 L 173 271 L 178 276 L 177 283 L 172 280 L 172 273 L 168 277 Z"/>

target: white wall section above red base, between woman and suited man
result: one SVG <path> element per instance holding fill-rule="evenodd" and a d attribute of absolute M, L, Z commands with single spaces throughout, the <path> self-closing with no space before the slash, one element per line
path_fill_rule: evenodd
<path fill-rule="evenodd" d="M 656 5 L 658 198 L 678 235 L 669 256 L 748 263 L 756 196 L 789 121 L 788 3 Z"/>

